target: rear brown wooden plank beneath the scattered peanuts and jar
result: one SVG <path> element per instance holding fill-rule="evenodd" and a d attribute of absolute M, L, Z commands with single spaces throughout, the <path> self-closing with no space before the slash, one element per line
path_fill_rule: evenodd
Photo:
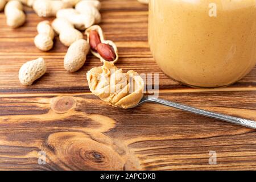
<path fill-rule="evenodd" d="M 63 68 L 63 57 L 67 48 L 56 39 L 55 47 L 51 51 L 39 51 L 33 43 L 37 34 L 35 27 L 45 18 L 39 18 L 30 8 L 26 9 L 26 13 L 26 24 L 17 29 L 7 27 L 5 16 L 0 14 L 0 92 L 89 92 L 85 73 L 90 68 L 101 65 L 100 61 L 90 55 L 79 72 L 66 72 Z M 101 13 L 101 26 L 106 38 L 117 43 L 119 48 L 119 68 L 125 71 L 134 69 L 139 73 L 159 73 L 160 89 L 186 88 L 164 75 L 152 59 L 147 44 L 147 6 L 135 0 L 105 0 L 102 1 Z M 20 66 L 39 56 L 47 61 L 46 75 L 30 87 L 20 85 Z M 255 77 L 256 68 L 231 87 L 256 86 Z"/>

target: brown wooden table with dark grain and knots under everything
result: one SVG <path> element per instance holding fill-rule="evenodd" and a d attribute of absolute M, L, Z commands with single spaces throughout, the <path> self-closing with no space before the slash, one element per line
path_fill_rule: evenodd
<path fill-rule="evenodd" d="M 118 48 L 118 68 L 159 73 L 160 97 L 238 117 L 256 119 L 256 68 L 227 88 L 193 89 L 164 75 L 147 44 L 147 6 L 135 0 L 103 0 L 106 38 Z M 252 129 L 144 104 L 123 110 L 89 92 L 85 73 L 100 66 L 89 55 L 76 73 L 63 68 L 67 48 L 56 40 L 49 52 L 33 43 L 39 18 L 6 26 L 0 14 L 0 169 L 255 169 Z M 52 20 L 50 18 L 49 20 Z M 20 66 L 42 56 L 48 71 L 32 86 L 18 80 Z M 217 164 L 210 165 L 210 151 Z M 46 154 L 46 164 L 39 164 Z"/>

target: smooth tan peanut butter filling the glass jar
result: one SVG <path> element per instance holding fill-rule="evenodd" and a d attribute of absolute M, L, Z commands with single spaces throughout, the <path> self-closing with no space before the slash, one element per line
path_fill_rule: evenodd
<path fill-rule="evenodd" d="M 256 63 L 255 0 L 151 0 L 148 30 L 156 63 L 184 84 L 230 85 Z"/>

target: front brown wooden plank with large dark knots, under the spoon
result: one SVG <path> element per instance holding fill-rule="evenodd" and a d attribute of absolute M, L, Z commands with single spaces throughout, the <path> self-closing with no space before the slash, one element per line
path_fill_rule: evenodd
<path fill-rule="evenodd" d="M 161 98 L 256 119 L 256 91 Z M 143 104 L 117 109 L 92 94 L 0 96 L 0 169 L 255 169 L 254 130 Z M 39 151 L 47 164 L 38 164 Z M 209 165 L 209 151 L 217 165 Z"/>

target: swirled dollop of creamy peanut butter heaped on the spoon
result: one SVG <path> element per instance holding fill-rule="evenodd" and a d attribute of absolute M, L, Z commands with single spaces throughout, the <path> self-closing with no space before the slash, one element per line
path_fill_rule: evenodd
<path fill-rule="evenodd" d="M 86 74 L 90 91 L 115 107 L 134 107 L 143 97 L 144 82 L 137 72 L 123 73 L 113 63 L 90 69 Z"/>

